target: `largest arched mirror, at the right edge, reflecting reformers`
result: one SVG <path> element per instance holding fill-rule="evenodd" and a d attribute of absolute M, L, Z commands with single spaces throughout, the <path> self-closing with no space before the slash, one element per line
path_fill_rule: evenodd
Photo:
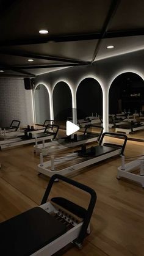
<path fill-rule="evenodd" d="M 109 90 L 109 130 L 143 138 L 144 81 L 131 72 L 114 79 Z"/>

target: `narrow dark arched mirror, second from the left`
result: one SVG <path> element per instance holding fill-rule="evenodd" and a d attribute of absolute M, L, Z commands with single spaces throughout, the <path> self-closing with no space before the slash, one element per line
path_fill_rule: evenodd
<path fill-rule="evenodd" d="M 72 118 L 72 95 L 66 82 L 58 82 L 54 87 L 53 94 L 54 121 L 60 128 L 65 128 L 66 121 Z"/>

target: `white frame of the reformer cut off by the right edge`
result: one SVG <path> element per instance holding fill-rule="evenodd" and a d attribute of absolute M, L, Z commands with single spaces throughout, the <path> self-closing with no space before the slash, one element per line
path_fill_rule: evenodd
<path fill-rule="evenodd" d="M 142 185 L 142 188 L 144 188 L 144 174 L 139 175 L 139 174 L 132 173 L 135 167 L 140 167 L 140 163 L 141 163 L 140 160 L 144 161 L 144 157 L 131 161 L 128 164 L 124 164 L 123 157 L 124 156 L 122 156 L 122 164 L 120 167 L 118 167 L 117 178 L 118 179 L 120 179 L 121 177 L 128 178 L 128 180 L 132 180 L 140 183 Z"/>

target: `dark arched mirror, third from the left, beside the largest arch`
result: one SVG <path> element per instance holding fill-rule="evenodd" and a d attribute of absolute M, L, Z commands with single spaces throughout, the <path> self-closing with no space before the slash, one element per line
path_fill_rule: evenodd
<path fill-rule="evenodd" d="M 84 78 L 76 92 L 77 119 L 90 115 L 103 115 L 103 91 L 94 78 Z"/>

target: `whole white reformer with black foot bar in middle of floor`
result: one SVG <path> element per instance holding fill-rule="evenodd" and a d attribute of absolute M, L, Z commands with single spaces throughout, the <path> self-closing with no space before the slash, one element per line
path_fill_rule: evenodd
<path fill-rule="evenodd" d="M 123 145 L 117 145 L 117 144 L 110 144 L 110 143 L 104 143 L 103 139 L 104 136 L 112 136 L 112 137 L 118 137 L 119 139 L 123 139 Z M 124 148 L 126 147 L 127 142 L 127 136 L 125 134 L 116 134 L 116 133 L 103 133 L 101 136 L 99 145 L 95 147 L 95 153 L 91 157 L 86 158 L 85 161 L 82 161 L 81 163 L 73 164 L 73 166 L 64 167 L 63 169 L 56 170 L 56 167 L 58 164 L 64 164 L 65 161 L 67 161 L 67 158 L 70 158 L 70 160 L 74 159 L 84 159 L 81 155 L 81 150 L 70 153 L 67 156 L 62 156 L 60 158 L 54 159 L 54 157 L 51 157 L 50 161 L 46 161 L 43 163 L 43 154 L 40 153 L 40 164 L 37 166 L 37 171 L 39 174 L 44 174 L 46 176 L 52 177 L 54 174 L 61 174 L 61 175 L 68 175 L 72 174 L 76 170 L 82 169 L 84 167 L 90 166 L 95 163 L 99 163 L 100 161 L 103 161 L 105 159 L 111 158 L 112 156 L 118 156 L 123 155 Z M 102 145 L 103 144 L 103 145 Z M 56 161 L 56 164 L 54 164 L 54 161 Z"/>

